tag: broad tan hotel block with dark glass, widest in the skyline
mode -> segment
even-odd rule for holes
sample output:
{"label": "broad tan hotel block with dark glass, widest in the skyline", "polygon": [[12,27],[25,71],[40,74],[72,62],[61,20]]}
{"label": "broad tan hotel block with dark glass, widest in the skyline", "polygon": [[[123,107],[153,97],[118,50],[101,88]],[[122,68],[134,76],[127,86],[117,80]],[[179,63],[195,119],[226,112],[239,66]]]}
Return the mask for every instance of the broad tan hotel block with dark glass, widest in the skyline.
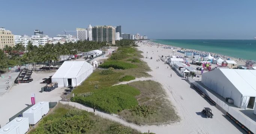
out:
{"label": "broad tan hotel block with dark glass, widest in the skyline", "polygon": [[93,41],[115,44],[115,28],[113,26],[94,26]]}

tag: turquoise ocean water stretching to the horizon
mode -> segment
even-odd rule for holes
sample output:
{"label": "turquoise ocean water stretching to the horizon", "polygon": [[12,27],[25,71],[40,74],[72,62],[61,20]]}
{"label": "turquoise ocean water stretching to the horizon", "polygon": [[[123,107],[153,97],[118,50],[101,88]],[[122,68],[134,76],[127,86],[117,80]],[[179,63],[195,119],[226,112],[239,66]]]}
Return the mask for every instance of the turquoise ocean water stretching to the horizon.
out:
{"label": "turquoise ocean water stretching to the horizon", "polygon": [[256,61],[256,39],[156,39],[153,42]]}

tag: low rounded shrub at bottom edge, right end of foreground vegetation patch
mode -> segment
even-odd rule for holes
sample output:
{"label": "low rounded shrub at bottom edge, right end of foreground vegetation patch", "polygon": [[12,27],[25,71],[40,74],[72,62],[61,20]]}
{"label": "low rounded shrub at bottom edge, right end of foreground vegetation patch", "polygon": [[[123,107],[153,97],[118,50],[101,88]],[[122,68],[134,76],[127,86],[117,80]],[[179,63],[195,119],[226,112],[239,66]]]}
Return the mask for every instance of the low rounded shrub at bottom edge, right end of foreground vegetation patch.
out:
{"label": "low rounded shrub at bottom edge, right end of foreground vegetation patch", "polygon": [[108,128],[107,133],[108,134],[131,134],[132,131],[130,128],[127,128],[123,125],[113,124]]}

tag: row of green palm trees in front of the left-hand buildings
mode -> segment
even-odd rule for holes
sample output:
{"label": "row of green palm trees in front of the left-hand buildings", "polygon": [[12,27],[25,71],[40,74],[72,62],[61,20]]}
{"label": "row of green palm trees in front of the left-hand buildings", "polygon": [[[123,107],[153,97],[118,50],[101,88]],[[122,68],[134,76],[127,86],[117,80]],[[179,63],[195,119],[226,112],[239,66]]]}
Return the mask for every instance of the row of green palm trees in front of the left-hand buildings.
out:
{"label": "row of green palm trees in front of the left-hand buildings", "polygon": [[21,43],[14,47],[5,46],[3,50],[0,50],[0,69],[19,64],[33,64],[34,68],[36,63],[48,63],[50,68],[51,61],[58,61],[60,55],[74,55],[78,52],[87,52],[104,46],[106,46],[106,42],[94,41],[45,44],[43,46],[39,45],[39,47],[28,42],[26,48]]}

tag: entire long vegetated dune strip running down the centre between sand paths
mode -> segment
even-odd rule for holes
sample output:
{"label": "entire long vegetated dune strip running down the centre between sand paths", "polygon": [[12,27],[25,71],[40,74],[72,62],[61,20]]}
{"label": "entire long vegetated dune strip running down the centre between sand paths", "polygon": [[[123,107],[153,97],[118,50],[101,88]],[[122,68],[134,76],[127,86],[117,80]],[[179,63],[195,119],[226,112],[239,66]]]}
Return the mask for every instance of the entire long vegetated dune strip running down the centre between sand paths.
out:
{"label": "entire long vegetated dune strip running down the centre between sand paths", "polygon": [[[118,47],[117,51],[103,62],[72,93],[71,101],[136,122],[162,123],[178,121],[160,83],[148,80],[118,84],[134,80],[135,77],[151,77],[151,71],[136,47]],[[115,85],[115,86],[113,86]]]}

